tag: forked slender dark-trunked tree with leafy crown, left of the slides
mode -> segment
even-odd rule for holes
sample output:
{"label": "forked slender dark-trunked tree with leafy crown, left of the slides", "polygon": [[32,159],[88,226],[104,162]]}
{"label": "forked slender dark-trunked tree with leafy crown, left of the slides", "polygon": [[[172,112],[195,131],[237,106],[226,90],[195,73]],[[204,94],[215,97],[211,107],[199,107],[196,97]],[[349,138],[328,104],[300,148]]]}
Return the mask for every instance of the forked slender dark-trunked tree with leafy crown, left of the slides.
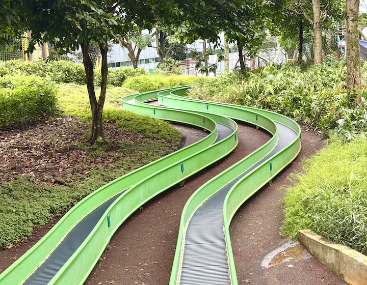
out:
{"label": "forked slender dark-trunked tree with leafy crown, left of the slides", "polygon": [[[180,11],[172,2],[117,0],[22,0],[23,28],[32,31],[30,51],[41,40],[51,41],[65,52],[81,47],[86,71],[87,90],[92,113],[89,143],[103,138],[102,112],[107,87],[108,42],[129,34],[136,26],[152,27],[156,17],[177,17]],[[145,13],[141,13],[144,10]],[[101,84],[97,99],[94,69],[89,53],[90,42],[98,44],[101,53]]]}

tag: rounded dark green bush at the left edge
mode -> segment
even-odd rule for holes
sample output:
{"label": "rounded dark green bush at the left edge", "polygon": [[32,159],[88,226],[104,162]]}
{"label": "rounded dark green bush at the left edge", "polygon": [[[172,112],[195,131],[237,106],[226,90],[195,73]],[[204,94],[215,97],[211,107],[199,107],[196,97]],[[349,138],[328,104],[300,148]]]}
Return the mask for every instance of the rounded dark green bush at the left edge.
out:
{"label": "rounded dark green bush at the left edge", "polygon": [[22,74],[0,77],[0,127],[31,123],[57,111],[54,83]]}

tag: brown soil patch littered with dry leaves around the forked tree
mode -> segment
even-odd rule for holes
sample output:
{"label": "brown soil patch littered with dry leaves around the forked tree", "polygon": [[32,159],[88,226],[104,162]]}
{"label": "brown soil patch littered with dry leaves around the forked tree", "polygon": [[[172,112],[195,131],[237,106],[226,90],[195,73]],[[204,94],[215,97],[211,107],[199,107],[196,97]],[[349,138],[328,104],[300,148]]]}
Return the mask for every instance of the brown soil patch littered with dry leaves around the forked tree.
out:
{"label": "brown soil patch littered with dry leaves around the forked tree", "polygon": [[[89,124],[75,117],[55,118],[20,129],[0,129],[0,182],[29,176],[40,184],[62,184],[62,179],[71,175],[87,175],[96,166],[115,162],[113,156],[91,160],[88,155],[93,149],[78,146],[89,129]],[[104,123],[104,134],[119,144],[136,142],[136,135],[111,123]],[[117,149],[112,147],[109,152]]]}

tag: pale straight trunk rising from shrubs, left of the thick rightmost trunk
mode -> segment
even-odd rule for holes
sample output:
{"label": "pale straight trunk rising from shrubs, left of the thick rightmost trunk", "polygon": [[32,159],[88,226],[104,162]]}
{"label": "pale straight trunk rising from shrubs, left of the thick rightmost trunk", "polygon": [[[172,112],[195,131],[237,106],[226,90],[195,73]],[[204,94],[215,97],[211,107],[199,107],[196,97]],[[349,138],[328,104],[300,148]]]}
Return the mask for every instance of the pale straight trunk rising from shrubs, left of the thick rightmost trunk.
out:
{"label": "pale straight trunk rising from shrubs, left of the thick rightmost trunk", "polygon": [[319,64],[323,62],[320,0],[312,0],[312,10],[313,10],[313,62],[315,64]]}

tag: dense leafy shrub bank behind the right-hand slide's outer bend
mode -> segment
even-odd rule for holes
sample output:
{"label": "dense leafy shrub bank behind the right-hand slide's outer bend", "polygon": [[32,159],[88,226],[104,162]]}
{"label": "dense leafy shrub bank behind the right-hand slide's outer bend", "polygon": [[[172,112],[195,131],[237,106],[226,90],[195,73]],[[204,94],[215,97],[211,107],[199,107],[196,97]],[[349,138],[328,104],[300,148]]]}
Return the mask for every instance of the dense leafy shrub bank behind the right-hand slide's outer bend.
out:
{"label": "dense leafy shrub bank behind the right-hand slide's outer bend", "polygon": [[357,94],[345,89],[345,79],[345,62],[327,58],[304,72],[285,64],[268,65],[245,80],[223,74],[209,83],[198,82],[190,93],[199,99],[269,109],[324,135],[334,131],[350,140],[367,132],[367,91],[362,90],[362,103],[355,105]]}

